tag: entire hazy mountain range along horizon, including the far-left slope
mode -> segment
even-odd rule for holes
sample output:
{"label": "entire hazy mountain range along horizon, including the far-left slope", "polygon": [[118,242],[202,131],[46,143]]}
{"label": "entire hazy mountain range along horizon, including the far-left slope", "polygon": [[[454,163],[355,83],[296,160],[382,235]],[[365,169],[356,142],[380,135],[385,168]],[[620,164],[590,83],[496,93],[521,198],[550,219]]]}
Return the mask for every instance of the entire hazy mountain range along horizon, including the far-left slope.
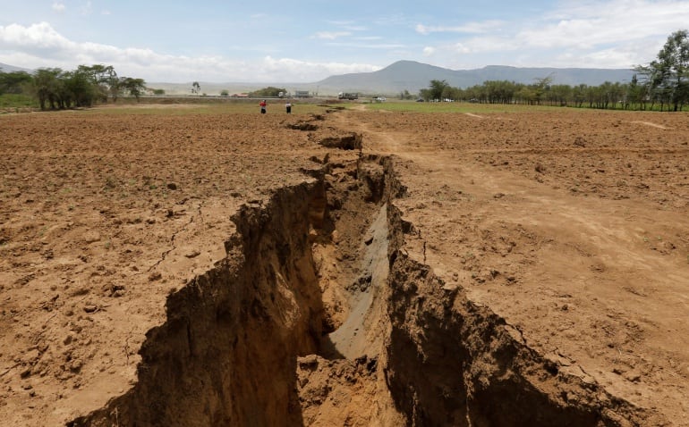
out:
{"label": "entire hazy mountain range along horizon, including the far-left slope", "polygon": [[[0,63],[0,71],[31,70]],[[419,89],[428,88],[430,80],[446,80],[454,88],[469,88],[488,80],[507,80],[531,84],[535,80],[550,77],[553,84],[598,86],[606,81],[625,82],[632,80],[634,71],[625,69],[599,68],[518,68],[503,65],[489,65],[475,70],[450,70],[427,63],[397,61],[386,68],[372,72],[357,72],[330,76],[313,83],[217,83],[200,82],[201,91],[208,95],[219,95],[222,90],[231,94],[250,92],[267,86],[286,88],[288,91],[309,90],[320,96],[333,96],[338,92],[359,92],[367,95],[397,95],[408,90],[412,95]],[[147,82],[149,88],[162,88],[169,95],[190,94],[189,83]]]}

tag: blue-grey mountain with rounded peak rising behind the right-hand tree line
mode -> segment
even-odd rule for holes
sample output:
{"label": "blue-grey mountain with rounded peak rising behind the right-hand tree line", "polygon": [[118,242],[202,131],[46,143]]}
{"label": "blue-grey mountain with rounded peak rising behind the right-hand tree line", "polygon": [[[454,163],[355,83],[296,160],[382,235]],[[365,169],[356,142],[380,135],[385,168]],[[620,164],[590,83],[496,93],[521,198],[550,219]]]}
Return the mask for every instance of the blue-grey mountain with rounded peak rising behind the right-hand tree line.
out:
{"label": "blue-grey mountain with rounded peak rising behind the right-hand tree line", "polygon": [[488,80],[508,80],[531,84],[550,77],[553,84],[598,86],[606,81],[624,82],[632,79],[632,70],[595,68],[517,68],[489,65],[476,70],[449,70],[426,63],[398,61],[373,72],[331,76],[315,83],[320,88],[339,88],[343,92],[379,92],[398,94],[409,90],[415,94],[428,88],[430,80],[446,80],[454,88],[469,88]]}

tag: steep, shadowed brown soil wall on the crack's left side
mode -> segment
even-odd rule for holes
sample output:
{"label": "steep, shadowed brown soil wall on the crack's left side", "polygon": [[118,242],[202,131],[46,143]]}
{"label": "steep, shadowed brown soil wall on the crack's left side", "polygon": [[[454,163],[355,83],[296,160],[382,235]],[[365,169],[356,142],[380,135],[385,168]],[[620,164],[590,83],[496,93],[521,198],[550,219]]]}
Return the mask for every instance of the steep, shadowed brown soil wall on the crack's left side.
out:
{"label": "steep, shadowed brown soil wall on the crack's left side", "polygon": [[72,425],[300,425],[296,357],[318,350],[323,310],[308,239],[321,181],[244,205],[228,256],[167,300],[138,383]]}

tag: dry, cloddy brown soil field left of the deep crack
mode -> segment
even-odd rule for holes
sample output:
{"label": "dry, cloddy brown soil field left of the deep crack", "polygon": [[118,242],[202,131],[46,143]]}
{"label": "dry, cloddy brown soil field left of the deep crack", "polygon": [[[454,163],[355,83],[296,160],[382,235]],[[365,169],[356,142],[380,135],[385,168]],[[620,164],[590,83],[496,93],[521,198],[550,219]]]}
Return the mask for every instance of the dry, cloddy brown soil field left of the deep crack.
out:
{"label": "dry, cloddy brown soil field left of the deep crack", "polygon": [[237,207],[302,182],[319,153],[277,114],[32,113],[0,134],[3,425],[58,425],[128,389],[167,295],[225,256]]}

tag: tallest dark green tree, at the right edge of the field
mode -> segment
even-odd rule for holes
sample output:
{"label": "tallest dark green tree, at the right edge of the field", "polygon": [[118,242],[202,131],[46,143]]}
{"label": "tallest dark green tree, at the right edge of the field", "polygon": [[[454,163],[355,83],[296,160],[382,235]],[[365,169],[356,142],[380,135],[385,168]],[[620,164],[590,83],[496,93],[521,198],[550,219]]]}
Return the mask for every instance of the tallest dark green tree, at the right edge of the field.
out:
{"label": "tallest dark green tree, at the right edge of the field", "polygon": [[680,29],[668,37],[655,61],[635,68],[645,77],[651,102],[659,101],[660,109],[668,104],[678,111],[689,101],[689,31]]}

